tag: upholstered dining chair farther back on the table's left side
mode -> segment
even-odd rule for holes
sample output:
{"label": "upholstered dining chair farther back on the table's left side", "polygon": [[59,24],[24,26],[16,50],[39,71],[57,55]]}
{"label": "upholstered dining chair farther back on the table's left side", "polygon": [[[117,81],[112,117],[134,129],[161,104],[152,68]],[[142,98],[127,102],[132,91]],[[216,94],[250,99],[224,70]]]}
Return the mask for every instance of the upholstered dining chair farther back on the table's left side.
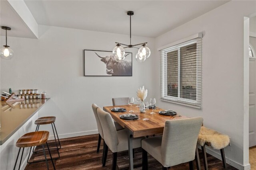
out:
{"label": "upholstered dining chair farther back on the table's left side", "polygon": [[[97,123],[97,127],[98,127],[98,132],[99,132],[99,138],[98,138],[98,147],[97,147],[97,153],[99,152],[100,150],[100,142],[101,142],[101,139],[104,140],[104,136],[103,136],[103,131],[102,131],[102,126],[100,124],[100,119],[98,117],[98,113],[97,113],[97,109],[98,109],[98,106],[96,104],[92,104],[92,110],[93,110],[93,113],[94,113],[94,116],[95,116],[95,119],[96,119],[96,123]],[[116,128],[117,131],[121,130],[121,129],[124,129],[122,126],[120,126],[117,122],[114,122],[114,126]],[[104,145],[103,145],[104,147]],[[104,149],[103,149],[104,150]],[[102,154],[102,162],[103,162],[103,156],[104,156],[104,152]]]}

